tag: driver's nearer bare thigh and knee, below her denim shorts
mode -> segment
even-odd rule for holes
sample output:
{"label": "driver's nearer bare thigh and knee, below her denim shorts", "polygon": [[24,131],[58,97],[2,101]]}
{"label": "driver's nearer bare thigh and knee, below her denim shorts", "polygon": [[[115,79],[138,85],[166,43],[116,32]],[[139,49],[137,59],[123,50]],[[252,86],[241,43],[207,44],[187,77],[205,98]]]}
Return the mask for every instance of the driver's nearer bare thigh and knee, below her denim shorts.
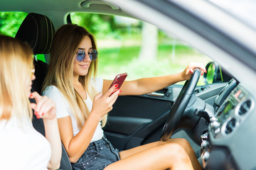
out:
{"label": "driver's nearer bare thigh and knee, below her denim shorts", "polygon": [[[124,156],[124,154],[121,154]],[[126,155],[127,156],[127,155]],[[105,170],[148,170],[148,169],[171,169],[171,170],[189,170],[193,169],[191,161],[186,151],[175,143],[166,143],[144,149],[141,152],[134,153],[128,157],[122,158],[105,168]]]}

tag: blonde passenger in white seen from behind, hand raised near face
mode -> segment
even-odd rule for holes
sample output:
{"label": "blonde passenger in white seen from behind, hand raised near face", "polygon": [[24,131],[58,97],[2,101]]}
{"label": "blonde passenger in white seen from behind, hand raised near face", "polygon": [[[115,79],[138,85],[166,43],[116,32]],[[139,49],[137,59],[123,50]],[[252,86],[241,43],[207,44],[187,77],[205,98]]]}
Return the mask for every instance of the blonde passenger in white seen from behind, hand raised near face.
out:
{"label": "blonde passenger in white seen from behind, hand raised near face", "polygon": [[[58,169],[61,142],[55,103],[34,92],[33,52],[20,40],[0,35],[0,169]],[[36,103],[30,103],[34,98]],[[32,125],[32,109],[43,118],[46,137]]]}

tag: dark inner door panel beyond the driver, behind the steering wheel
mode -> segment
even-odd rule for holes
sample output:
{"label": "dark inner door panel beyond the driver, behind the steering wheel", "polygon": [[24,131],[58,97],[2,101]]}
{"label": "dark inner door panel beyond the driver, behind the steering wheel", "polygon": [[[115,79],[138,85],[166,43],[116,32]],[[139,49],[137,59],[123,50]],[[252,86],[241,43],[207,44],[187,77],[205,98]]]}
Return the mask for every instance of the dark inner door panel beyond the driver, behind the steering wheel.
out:
{"label": "dark inner door panel beyond the driver, behind the steering wheel", "polygon": [[[213,106],[215,97],[223,86],[225,84],[198,86],[195,94]],[[175,84],[154,94],[119,96],[104,128],[107,139],[120,150],[160,140],[161,129],[181,88],[182,85]],[[186,120],[181,120],[181,124],[186,123]],[[193,136],[193,134],[187,136]]]}

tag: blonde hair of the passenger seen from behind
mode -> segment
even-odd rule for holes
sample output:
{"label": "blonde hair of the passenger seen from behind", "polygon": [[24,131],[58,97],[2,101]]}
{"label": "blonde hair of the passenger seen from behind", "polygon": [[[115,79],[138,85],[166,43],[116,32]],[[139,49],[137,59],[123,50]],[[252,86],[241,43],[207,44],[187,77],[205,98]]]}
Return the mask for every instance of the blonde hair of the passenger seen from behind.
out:
{"label": "blonde hair of the passenger seen from behind", "polygon": [[21,40],[0,35],[0,120],[29,117],[32,110],[26,94],[33,69],[33,52]]}

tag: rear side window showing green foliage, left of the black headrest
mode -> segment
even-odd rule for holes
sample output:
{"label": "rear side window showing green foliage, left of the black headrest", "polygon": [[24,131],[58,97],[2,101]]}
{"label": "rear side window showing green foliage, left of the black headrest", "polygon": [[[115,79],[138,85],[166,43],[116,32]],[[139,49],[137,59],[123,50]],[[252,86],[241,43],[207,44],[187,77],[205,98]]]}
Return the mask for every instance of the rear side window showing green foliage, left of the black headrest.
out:
{"label": "rear side window showing green foliage, left of the black headrest", "polygon": [[[14,38],[27,15],[24,12],[0,12],[0,34]],[[46,62],[44,55],[36,56],[38,60]]]}

